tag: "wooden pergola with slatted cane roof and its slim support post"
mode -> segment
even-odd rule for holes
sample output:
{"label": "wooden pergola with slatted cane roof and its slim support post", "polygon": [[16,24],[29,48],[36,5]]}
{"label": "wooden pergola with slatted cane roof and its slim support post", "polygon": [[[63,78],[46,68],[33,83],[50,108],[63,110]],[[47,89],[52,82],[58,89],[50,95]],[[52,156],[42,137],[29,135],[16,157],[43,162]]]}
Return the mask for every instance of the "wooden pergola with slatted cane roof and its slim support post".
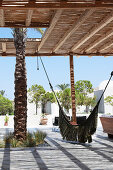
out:
{"label": "wooden pergola with slatted cane roof and its slim support post", "polygon": [[[1,0],[0,27],[47,28],[28,39],[26,56],[113,56],[113,0]],[[0,39],[0,55],[15,56],[13,39]]]}

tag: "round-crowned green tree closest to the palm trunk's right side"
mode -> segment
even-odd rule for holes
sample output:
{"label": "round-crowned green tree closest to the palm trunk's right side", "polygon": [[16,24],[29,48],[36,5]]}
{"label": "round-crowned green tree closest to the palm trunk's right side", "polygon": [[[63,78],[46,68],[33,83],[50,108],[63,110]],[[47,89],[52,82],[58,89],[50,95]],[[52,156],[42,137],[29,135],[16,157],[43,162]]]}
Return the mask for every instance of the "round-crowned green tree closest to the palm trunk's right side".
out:
{"label": "round-crowned green tree closest to the palm trunk's right side", "polygon": [[38,104],[42,100],[46,91],[44,90],[43,86],[35,84],[35,85],[32,85],[31,88],[29,88],[28,92],[31,97],[31,99],[29,99],[29,101],[31,103],[34,102],[36,104],[36,114],[37,114]]}

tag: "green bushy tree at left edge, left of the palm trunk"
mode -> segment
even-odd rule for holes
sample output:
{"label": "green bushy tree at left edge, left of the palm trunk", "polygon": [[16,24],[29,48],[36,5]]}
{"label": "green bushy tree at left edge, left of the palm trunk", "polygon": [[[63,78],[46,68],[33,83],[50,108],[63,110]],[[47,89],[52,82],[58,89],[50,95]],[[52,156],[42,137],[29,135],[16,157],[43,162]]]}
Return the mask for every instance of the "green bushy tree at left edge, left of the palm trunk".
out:
{"label": "green bushy tree at left edge, left of the palm trunk", "polygon": [[12,114],[13,103],[11,100],[0,94],[0,115]]}

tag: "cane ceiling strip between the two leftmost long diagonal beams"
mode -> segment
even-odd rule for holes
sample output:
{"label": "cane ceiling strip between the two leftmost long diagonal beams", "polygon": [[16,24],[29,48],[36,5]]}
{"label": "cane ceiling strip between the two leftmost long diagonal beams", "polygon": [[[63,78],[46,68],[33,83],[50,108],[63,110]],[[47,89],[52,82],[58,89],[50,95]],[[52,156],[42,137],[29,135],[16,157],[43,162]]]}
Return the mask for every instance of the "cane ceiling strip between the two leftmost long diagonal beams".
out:
{"label": "cane ceiling strip between the two leftmost long diagonal beams", "polygon": [[[49,47],[50,51],[53,51],[54,46],[59,42],[59,40],[61,40],[61,38],[64,36],[64,33],[67,32],[70,27],[72,27],[73,22],[76,22],[79,19],[83,12],[84,10],[64,10],[56,26],[54,27],[54,30],[46,40],[44,48],[46,46],[46,48]],[[41,51],[44,52],[43,47]]]}

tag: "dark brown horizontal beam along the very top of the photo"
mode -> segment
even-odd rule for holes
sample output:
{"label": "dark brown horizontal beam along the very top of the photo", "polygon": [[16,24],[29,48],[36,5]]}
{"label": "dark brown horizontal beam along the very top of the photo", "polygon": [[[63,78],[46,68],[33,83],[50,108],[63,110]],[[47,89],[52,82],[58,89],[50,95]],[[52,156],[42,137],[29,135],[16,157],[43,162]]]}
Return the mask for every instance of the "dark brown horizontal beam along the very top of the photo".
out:
{"label": "dark brown horizontal beam along the very top of the photo", "polygon": [[7,1],[5,4],[1,4],[0,8],[1,9],[13,9],[13,10],[21,10],[21,9],[87,9],[87,8],[112,8],[113,3],[110,2],[110,0],[107,0],[107,3],[105,1],[101,0],[95,0],[95,3],[92,2],[84,2],[84,1],[55,1],[55,2],[50,2],[46,1],[37,1],[33,3],[22,3],[20,2],[14,2],[14,1]]}

